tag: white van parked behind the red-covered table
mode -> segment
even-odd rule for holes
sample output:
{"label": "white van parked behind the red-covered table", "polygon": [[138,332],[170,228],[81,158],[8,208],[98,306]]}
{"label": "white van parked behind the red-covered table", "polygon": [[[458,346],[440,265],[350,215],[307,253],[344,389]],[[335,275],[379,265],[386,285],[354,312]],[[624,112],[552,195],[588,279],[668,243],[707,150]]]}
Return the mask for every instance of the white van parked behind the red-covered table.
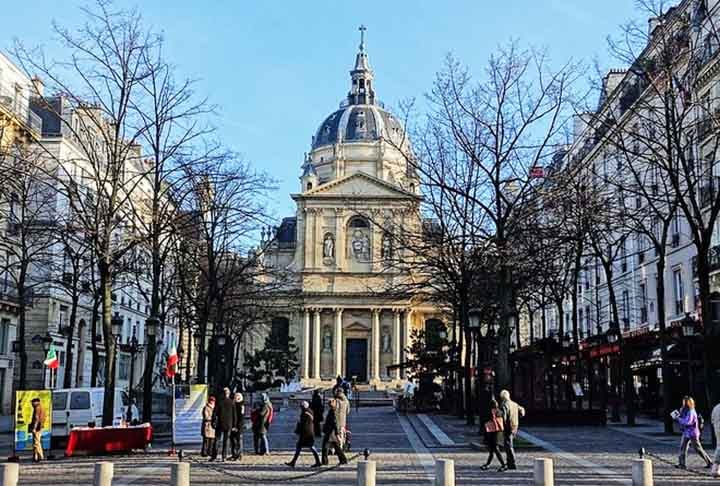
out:
{"label": "white van parked behind the red-covered table", "polygon": [[[104,402],[102,387],[61,388],[52,391],[53,421],[52,438],[66,438],[74,427],[100,427]],[[115,389],[115,413],[113,425],[120,425],[128,403],[127,393]]]}

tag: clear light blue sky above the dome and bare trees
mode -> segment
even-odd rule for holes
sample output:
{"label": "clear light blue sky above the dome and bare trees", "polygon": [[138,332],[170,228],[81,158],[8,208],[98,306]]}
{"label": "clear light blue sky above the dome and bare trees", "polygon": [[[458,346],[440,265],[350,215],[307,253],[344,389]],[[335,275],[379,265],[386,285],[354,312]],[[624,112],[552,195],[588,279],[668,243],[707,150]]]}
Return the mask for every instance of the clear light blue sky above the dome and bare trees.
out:
{"label": "clear light blue sky above the dome and bare trees", "polygon": [[[388,107],[422,97],[452,52],[481,73],[498,44],[546,47],[553,62],[613,66],[606,37],[637,15],[632,0],[116,0],[141,7],[165,34],[182,76],[218,105],[219,136],[278,180],[278,216],[294,211],[303,153],[349,88],[348,71],[365,24],[375,87]],[[10,2],[0,49],[15,38],[52,48],[52,20],[80,21],[74,0]],[[52,50],[50,51],[52,52]]]}

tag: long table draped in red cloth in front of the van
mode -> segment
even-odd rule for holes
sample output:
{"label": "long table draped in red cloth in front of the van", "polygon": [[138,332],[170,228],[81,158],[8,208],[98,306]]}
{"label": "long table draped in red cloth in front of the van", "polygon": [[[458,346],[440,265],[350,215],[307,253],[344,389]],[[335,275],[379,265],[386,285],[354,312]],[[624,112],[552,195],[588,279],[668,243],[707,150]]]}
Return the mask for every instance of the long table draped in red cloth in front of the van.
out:
{"label": "long table draped in red cloth in front of the van", "polygon": [[75,451],[88,454],[129,452],[133,449],[145,449],[150,441],[150,424],[133,427],[81,427],[70,431],[65,455],[72,456]]}

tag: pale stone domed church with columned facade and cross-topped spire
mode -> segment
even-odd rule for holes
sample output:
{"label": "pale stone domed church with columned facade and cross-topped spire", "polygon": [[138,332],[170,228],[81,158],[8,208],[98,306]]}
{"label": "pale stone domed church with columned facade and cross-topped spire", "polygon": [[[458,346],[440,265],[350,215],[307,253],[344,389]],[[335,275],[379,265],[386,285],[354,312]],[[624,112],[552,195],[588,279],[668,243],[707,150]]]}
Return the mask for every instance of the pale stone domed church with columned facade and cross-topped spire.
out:
{"label": "pale stone domed church with columned facade and cross-topped spire", "polygon": [[377,99],[361,36],[350,90],[312,137],[292,195],[296,214],[275,230],[266,259],[297,277],[299,304],[273,328],[295,338],[304,384],[341,375],[397,385],[404,372],[392,366],[407,361],[412,330],[444,327],[432,306],[387,291],[399,272],[388,264],[394,249],[386,232],[419,225],[409,154],[402,124]]}

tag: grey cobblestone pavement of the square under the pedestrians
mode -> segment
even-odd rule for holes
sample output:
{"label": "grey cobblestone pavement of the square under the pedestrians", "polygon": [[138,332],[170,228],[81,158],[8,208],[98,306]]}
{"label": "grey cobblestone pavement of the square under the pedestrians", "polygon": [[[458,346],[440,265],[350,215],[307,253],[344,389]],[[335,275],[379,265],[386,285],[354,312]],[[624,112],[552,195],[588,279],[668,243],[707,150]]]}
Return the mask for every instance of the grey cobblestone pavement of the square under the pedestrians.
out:
{"label": "grey cobblestone pavement of the square under the pedestrians", "polygon": [[[296,469],[284,465],[291,457],[296,417],[295,411],[282,411],[277,415],[271,429],[270,456],[246,454],[240,463],[208,463],[197,456],[196,450],[189,448],[192,484],[355,484],[357,458],[347,466],[313,470],[309,468],[312,456],[303,452]],[[433,427],[433,424],[437,427]],[[658,486],[720,484],[719,480],[709,478],[707,470],[701,469],[701,461],[696,456],[691,456],[689,460],[695,472],[674,469],[672,464],[676,461],[677,441],[674,438],[654,436],[650,429],[643,427],[632,430],[621,426],[527,428],[525,439],[546,449],[520,451],[518,470],[498,473],[494,469],[488,472],[478,469],[486,453],[467,447],[465,441],[471,438],[471,434],[458,436],[453,427],[460,428],[460,424],[452,418],[399,417],[390,407],[382,407],[361,409],[359,413],[353,413],[350,425],[354,446],[352,455],[364,447],[371,449],[371,459],[377,461],[380,485],[432,484],[433,463],[438,458],[455,461],[458,485],[531,485],[532,461],[541,456],[554,459],[557,485],[631,484],[630,463],[637,457],[637,450],[641,446],[659,458],[654,460],[655,484]],[[435,436],[438,430],[446,435],[445,438],[439,438],[442,440]],[[456,445],[440,447],[440,443],[447,443],[447,437],[455,441]],[[460,437],[463,437],[462,443],[455,440]],[[247,435],[245,445],[251,445]],[[151,486],[169,484],[169,465],[175,459],[155,452],[148,455],[111,456],[102,460],[115,463],[114,485]],[[93,464],[97,461],[98,458],[71,458],[40,465],[23,462],[20,484],[92,484]],[[334,458],[331,458],[331,464],[335,464]]]}

